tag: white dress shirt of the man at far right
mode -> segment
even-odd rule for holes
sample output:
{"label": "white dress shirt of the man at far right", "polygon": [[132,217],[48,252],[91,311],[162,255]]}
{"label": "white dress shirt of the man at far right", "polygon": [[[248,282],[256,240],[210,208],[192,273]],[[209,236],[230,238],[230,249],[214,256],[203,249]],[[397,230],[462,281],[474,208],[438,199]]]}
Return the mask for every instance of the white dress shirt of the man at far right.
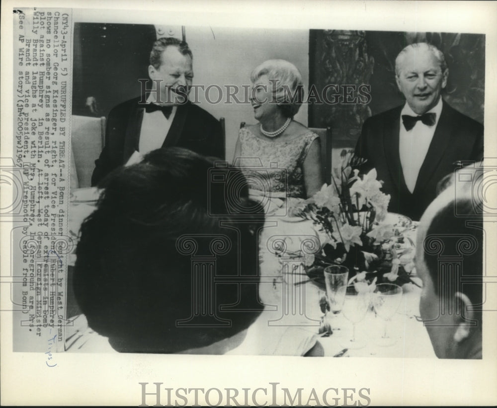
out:
{"label": "white dress shirt of the man at far right", "polygon": [[402,123],[402,115],[419,116],[406,103],[401,112],[400,131],[399,131],[399,155],[401,159],[402,171],[407,188],[412,193],[416,185],[419,169],[423,164],[428,148],[430,147],[431,139],[435,133],[440,113],[442,112],[442,98],[436,106],[426,113],[435,113],[435,124],[427,126],[421,121],[417,121],[414,128],[409,132]]}

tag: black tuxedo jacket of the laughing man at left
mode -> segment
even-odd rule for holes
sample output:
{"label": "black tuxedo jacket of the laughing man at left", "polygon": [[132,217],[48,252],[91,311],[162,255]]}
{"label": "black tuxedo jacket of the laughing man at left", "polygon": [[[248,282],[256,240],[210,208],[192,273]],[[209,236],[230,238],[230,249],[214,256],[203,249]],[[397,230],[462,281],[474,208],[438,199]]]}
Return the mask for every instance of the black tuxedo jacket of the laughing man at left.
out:
{"label": "black tuxedo jacket of the laughing man at left", "polygon": [[[110,171],[125,164],[138,151],[144,105],[140,98],[113,108],[107,118],[105,146],[95,161],[91,185],[97,185]],[[169,132],[162,145],[185,147],[204,156],[224,159],[221,124],[211,114],[191,102],[178,105]]]}

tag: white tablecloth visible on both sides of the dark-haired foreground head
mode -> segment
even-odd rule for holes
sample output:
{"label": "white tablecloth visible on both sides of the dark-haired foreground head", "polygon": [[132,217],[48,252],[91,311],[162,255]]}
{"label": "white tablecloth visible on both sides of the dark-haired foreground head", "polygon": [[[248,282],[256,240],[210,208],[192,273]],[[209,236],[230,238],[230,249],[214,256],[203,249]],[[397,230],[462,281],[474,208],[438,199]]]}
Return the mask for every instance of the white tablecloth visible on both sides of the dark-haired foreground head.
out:
{"label": "white tablecloth visible on both sides of the dark-haired foreground head", "polygon": [[[91,213],[94,203],[72,202],[70,206],[70,230],[76,236],[83,219]],[[311,221],[294,222],[295,219],[268,217],[260,237],[261,283],[259,292],[266,305],[256,322],[248,329],[245,340],[230,354],[248,355],[303,355],[319,341],[326,356],[333,356],[343,348],[351,335],[352,324],[341,314],[334,317],[333,327],[339,327],[330,337],[318,337],[319,321],[323,313],[319,300],[324,294],[313,283],[295,284],[307,280],[304,264],[295,273],[281,273],[276,258],[270,255],[271,244],[283,240],[288,251],[298,251],[302,240],[316,237]],[[318,234],[319,236],[319,234]],[[269,254],[269,256],[268,256]],[[275,261],[275,262],[272,262]],[[298,262],[296,263],[298,264]],[[275,267],[276,266],[276,267]],[[383,330],[383,321],[368,311],[364,320],[357,324],[356,337],[365,340],[366,346],[349,349],[345,356],[356,357],[434,357],[434,352],[419,316],[420,289],[413,284],[403,287],[402,304],[392,318],[390,335],[397,339],[392,346],[375,343]],[[112,349],[105,338],[87,328],[84,317],[79,318],[69,351],[105,352]],[[82,326],[83,325],[83,326]],[[68,342],[70,343],[70,342]]]}

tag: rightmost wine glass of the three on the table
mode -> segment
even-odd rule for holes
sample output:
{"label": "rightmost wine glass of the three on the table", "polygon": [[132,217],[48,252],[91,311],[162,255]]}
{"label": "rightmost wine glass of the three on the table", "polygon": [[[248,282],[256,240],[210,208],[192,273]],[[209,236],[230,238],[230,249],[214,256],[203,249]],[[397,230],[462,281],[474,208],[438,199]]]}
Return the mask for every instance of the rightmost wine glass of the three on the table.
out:
{"label": "rightmost wine glass of the three on the table", "polygon": [[381,339],[375,342],[378,345],[390,346],[395,344],[396,339],[388,335],[389,322],[397,312],[402,301],[402,287],[393,283],[379,283],[372,294],[372,303],[376,315],[385,321],[385,327]]}

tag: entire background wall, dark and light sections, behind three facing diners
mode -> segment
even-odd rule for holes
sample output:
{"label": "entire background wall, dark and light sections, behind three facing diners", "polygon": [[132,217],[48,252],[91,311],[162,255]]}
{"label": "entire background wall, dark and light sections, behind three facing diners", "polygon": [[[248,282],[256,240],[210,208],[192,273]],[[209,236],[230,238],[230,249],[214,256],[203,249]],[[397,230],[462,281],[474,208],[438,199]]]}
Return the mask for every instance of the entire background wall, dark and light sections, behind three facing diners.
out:
{"label": "entire background wall, dark and light sections, behind three facing diners", "polygon": [[[195,54],[195,83],[223,86],[247,82],[248,73],[256,63],[253,55],[248,57],[246,52],[251,51],[250,44],[256,33],[216,29],[217,37],[214,37],[210,29],[205,30],[186,29]],[[436,45],[445,55],[449,67],[448,85],[442,94],[445,100],[483,123],[483,34],[310,30],[301,33],[306,41],[297,41],[299,33],[285,30],[262,33],[265,42],[259,38],[256,41],[258,47],[253,50],[254,55],[259,56],[257,63],[270,58],[284,58],[298,65],[304,77],[307,76],[307,67],[301,65],[308,64],[309,84],[306,85],[315,85],[318,90],[327,84],[341,86],[339,93],[345,84],[371,86],[371,99],[367,104],[314,103],[301,108],[297,120],[305,125],[308,116],[310,127],[331,126],[334,148],[354,146],[367,117],[404,103],[395,83],[395,58],[406,45],[419,41]],[[150,48],[158,35],[154,25],[75,24],[73,114],[107,116],[116,104],[139,96],[138,78],[148,78]],[[290,42],[289,36],[293,39]],[[219,58],[212,57],[213,50],[219,51]],[[238,65],[230,70],[234,64],[230,58],[233,59],[234,55]],[[302,64],[299,64],[300,60]],[[219,75],[215,76],[216,73]],[[354,96],[357,92],[355,95],[352,92],[352,99]],[[92,99],[88,101],[88,98]],[[227,129],[233,128],[227,135],[227,153],[231,157],[240,122],[250,122],[249,106],[203,104],[203,107],[216,117],[225,117]],[[308,115],[304,108],[308,108]]]}

